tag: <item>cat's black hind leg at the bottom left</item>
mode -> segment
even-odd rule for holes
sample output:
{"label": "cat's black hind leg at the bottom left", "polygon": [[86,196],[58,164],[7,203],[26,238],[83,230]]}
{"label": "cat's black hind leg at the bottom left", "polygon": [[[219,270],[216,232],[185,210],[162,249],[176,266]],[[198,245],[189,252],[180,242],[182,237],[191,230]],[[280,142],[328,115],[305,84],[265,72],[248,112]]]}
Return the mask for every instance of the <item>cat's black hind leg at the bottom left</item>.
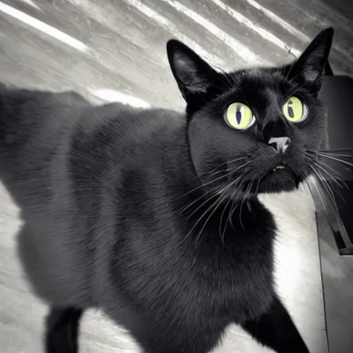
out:
{"label": "cat's black hind leg at the bottom left", "polygon": [[78,353],[82,309],[52,307],[46,319],[46,353]]}

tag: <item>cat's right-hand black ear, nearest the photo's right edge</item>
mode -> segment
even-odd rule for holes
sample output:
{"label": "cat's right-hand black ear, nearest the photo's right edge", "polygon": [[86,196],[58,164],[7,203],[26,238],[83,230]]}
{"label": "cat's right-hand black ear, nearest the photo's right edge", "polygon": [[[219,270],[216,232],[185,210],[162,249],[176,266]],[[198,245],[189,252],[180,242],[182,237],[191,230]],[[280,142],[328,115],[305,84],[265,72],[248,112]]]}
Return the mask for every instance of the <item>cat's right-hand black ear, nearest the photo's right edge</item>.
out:
{"label": "cat's right-hand black ear, nearest the photo's right edge", "polygon": [[320,32],[294,63],[290,69],[289,77],[301,78],[303,84],[309,85],[314,90],[319,90],[325,74],[325,65],[330,54],[333,36],[333,28],[327,28]]}

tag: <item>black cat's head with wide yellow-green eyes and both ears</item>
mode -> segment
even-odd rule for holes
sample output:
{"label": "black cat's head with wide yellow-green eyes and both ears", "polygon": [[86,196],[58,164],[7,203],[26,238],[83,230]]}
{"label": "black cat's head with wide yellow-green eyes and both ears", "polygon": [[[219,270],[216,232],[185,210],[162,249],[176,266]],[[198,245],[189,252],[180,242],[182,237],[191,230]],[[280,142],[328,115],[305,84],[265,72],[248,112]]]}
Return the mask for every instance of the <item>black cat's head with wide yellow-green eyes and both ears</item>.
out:
{"label": "black cat's head with wide yellow-green eyes and both ears", "polygon": [[214,70],[179,41],[168,58],[187,103],[190,153],[204,185],[232,195],[297,188],[313,173],[310,151],[327,143],[318,93],[333,29],[276,68]]}

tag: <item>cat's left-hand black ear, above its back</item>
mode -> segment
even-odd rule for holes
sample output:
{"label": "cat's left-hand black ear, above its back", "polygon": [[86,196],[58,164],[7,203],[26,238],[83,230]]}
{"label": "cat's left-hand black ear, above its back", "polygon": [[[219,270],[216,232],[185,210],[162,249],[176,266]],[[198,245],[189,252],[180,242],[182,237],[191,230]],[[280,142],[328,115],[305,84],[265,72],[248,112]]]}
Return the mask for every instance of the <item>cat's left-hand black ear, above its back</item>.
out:
{"label": "cat's left-hand black ear, above its back", "polygon": [[207,92],[218,74],[188,46],[172,39],[167,43],[170,68],[187,103],[195,94]]}

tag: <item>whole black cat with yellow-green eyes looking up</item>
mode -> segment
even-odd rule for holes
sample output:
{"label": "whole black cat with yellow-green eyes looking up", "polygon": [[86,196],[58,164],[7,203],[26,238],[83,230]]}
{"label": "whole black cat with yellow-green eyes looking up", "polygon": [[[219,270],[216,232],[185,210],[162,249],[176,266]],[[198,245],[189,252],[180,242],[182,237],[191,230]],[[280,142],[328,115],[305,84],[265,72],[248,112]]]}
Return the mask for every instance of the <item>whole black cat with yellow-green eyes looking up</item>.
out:
{"label": "whole black cat with yellow-green eyes looking up", "polygon": [[21,208],[19,254],[51,306],[48,353],[77,352],[101,307],[148,353],[206,353],[237,323],[308,352],[274,288],[272,214],[325,146],[318,92],[333,30],[279,68],[223,74],[179,41],[186,114],[0,88],[0,175]]}

